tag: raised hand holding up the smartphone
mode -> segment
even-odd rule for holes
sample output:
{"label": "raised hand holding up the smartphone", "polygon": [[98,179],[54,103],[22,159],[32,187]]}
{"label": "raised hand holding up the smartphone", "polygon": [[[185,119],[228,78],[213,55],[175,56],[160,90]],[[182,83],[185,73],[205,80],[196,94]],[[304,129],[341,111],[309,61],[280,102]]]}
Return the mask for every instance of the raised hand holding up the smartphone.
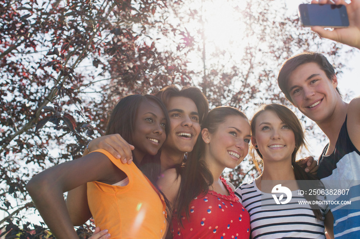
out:
{"label": "raised hand holding up the smartphone", "polygon": [[[360,49],[360,0],[351,0],[347,4],[344,0],[334,0],[336,5],[343,4],[349,16],[349,27],[335,28],[332,31],[325,30],[323,27],[312,27],[311,29],[319,34],[320,37],[332,39],[339,43]],[[311,1],[313,4],[333,4],[330,0]]]}

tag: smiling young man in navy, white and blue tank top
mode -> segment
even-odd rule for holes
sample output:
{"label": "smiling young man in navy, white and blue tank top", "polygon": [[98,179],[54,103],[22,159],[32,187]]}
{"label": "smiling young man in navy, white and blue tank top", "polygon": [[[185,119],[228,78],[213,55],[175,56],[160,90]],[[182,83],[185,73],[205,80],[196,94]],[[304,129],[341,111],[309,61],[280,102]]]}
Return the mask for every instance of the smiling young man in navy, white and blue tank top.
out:
{"label": "smiling young man in navy, white and blue tank top", "polygon": [[352,182],[349,194],[343,198],[352,205],[331,208],[335,237],[360,238],[360,206],[356,199],[360,196],[360,98],[344,102],[337,81],[327,58],[315,52],[291,57],[278,76],[286,98],[329,138],[319,158],[319,178]]}

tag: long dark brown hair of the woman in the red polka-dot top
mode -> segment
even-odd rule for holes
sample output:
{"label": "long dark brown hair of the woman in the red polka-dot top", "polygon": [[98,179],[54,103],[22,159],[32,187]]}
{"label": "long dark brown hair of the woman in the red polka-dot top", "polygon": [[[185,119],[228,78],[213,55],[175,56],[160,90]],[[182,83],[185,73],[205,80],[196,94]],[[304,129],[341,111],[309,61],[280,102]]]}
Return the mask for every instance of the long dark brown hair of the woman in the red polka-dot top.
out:
{"label": "long dark brown hair of the woman in the red polka-dot top", "polygon": [[[247,117],[244,113],[236,108],[221,106],[212,109],[205,118],[202,129],[208,129],[211,134],[217,131],[220,124],[226,121],[228,116]],[[191,201],[199,195],[205,195],[209,191],[214,179],[204,161],[200,160],[204,153],[205,143],[201,135],[197,138],[194,149],[188,155],[184,171],[181,175],[180,190],[177,201],[177,221],[181,223],[182,213],[185,211],[186,217],[189,218],[189,205]],[[181,199],[179,198],[181,196]]]}

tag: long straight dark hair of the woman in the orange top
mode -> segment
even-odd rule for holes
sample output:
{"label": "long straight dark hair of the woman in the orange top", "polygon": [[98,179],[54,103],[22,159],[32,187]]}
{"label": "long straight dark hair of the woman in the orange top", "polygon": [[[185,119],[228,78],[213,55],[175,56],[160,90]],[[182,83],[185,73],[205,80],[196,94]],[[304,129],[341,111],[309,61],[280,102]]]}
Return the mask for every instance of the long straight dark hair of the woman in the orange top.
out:
{"label": "long straight dark hair of the woman in the orange top", "polygon": [[[165,108],[163,102],[160,101],[157,97],[153,95],[141,95],[141,94],[132,94],[125,96],[120,99],[120,101],[114,107],[109,121],[107,123],[106,135],[107,134],[120,134],[125,141],[129,144],[134,145],[136,142],[133,142],[133,132],[135,128],[135,120],[137,109],[139,108],[142,102],[153,101],[155,102],[160,109],[163,111],[166,117],[166,127],[165,132],[169,132],[169,115]],[[156,182],[158,175],[160,174],[160,150],[156,155],[145,155],[142,158],[141,163],[138,165],[133,153],[133,162],[139,169],[149,178],[151,182]]]}

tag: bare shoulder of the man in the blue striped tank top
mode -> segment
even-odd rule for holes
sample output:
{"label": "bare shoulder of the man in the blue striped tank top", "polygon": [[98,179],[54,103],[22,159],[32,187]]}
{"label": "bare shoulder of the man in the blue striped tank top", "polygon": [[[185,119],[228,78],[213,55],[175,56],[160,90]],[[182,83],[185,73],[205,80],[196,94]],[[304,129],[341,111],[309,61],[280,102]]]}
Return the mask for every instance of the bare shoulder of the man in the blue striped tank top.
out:
{"label": "bare shoulder of the man in the blue striped tank top", "polygon": [[351,142],[360,150],[360,96],[351,100],[348,106],[347,128]]}

